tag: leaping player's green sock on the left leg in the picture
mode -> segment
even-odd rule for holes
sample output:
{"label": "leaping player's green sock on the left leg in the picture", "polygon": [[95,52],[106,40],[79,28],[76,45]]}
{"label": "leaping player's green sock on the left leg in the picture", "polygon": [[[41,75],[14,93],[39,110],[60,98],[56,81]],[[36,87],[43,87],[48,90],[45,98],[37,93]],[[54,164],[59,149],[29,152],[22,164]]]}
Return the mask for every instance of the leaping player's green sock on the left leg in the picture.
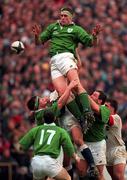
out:
{"label": "leaping player's green sock on the left leg in the picture", "polygon": [[72,100],[71,102],[69,102],[66,106],[76,119],[80,119],[82,117],[82,113],[81,113],[75,99]]}

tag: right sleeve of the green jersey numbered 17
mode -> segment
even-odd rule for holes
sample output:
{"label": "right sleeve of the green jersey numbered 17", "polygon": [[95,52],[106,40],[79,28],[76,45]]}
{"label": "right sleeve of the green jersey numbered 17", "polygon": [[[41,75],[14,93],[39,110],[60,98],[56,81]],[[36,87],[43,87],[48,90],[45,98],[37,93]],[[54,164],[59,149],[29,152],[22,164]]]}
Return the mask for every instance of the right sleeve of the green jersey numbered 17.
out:
{"label": "right sleeve of the green jersey numbered 17", "polygon": [[69,134],[64,129],[62,129],[61,143],[63,150],[67,153],[69,157],[72,157],[72,154],[75,152],[75,149]]}

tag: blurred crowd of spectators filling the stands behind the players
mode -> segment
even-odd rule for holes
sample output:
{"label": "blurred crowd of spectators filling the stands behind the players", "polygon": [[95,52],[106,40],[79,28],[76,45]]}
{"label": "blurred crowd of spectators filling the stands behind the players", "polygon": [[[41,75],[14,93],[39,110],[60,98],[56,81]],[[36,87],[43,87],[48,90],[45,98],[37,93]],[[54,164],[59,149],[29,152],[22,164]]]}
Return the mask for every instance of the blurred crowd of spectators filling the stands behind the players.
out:
{"label": "blurred crowd of spectators filling the stands behind the players", "polygon": [[[127,142],[127,1],[0,0],[0,160],[18,164],[16,172],[23,176],[27,172],[31,177],[30,170],[25,169],[29,167],[31,152],[19,155],[15,146],[34,124],[26,102],[33,95],[49,95],[54,90],[49,44],[35,45],[32,26],[40,24],[43,30],[58,19],[63,6],[74,9],[74,21],[88,33],[97,23],[103,26],[98,46],[79,47],[80,79],[89,93],[101,89],[118,101]],[[25,45],[21,55],[10,49],[16,40]]]}

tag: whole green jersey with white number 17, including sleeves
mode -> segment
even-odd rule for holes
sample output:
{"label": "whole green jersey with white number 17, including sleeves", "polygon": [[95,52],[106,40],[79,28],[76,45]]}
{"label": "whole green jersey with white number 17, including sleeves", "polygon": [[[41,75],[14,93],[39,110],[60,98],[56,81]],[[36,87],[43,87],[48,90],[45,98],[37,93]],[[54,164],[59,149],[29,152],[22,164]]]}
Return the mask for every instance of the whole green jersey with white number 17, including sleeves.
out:
{"label": "whole green jersey with white number 17, including sleeves", "polygon": [[68,133],[55,123],[44,123],[32,128],[19,143],[24,150],[28,150],[33,145],[35,155],[49,155],[52,158],[59,156],[61,145],[67,155],[72,156],[75,152]]}

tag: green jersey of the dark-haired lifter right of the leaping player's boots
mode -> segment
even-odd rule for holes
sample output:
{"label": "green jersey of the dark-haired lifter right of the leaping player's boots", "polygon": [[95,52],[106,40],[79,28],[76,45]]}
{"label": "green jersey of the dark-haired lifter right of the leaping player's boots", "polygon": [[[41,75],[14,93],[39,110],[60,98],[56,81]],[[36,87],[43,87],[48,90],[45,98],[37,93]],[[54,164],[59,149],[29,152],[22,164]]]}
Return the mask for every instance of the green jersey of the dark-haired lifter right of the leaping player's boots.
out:
{"label": "green jersey of the dark-haired lifter right of the leaping player's boots", "polygon": [[87,142],[97,142],[105,139],[105,125],[107,124],[110,116],[110,110],[104,106],[100,106],[100,114],[95,114],[95,122],[92,127],[87,130],[84,139]]}

